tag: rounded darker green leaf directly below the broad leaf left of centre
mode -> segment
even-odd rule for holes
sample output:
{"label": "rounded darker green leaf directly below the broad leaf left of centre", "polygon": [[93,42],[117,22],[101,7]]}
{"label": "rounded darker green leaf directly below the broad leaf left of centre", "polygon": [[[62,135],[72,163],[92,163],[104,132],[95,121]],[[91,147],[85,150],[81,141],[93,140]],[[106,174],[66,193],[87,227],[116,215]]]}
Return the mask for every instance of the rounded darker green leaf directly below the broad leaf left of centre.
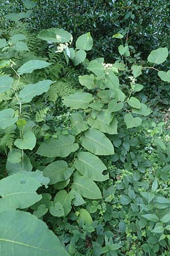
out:
{"label": "rounded darker green leaf directly below the broad leaf left of centre", "polygon": [[59,181],[69,179],[73,171],[74,168],[68,168],[67,162],[59,160],[46,166],[43,170],[43,174],[45,177],[49,177],[50,184],[55,184]]}

